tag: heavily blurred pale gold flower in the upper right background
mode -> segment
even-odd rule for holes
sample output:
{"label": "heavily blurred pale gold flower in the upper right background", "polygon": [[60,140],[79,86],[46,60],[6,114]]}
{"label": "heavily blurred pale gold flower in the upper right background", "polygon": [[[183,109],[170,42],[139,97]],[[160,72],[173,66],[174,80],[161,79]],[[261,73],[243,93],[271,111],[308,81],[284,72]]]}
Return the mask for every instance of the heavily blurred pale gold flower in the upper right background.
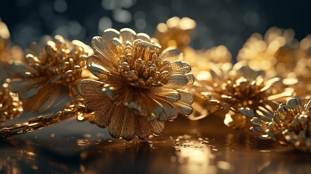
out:
{"label": "heavily blurred pale gold flower in the upper right background", "polygon": [[271,27],[262,37],[254,33],[238,52],[237,60],[246,60],[248,66],[254,70],[264,70],[270,75],[276,71],[284,72],[294,63],[293,58],[283,58],[290,53],[290,46],[294,46],[295,32],[292,29]]}

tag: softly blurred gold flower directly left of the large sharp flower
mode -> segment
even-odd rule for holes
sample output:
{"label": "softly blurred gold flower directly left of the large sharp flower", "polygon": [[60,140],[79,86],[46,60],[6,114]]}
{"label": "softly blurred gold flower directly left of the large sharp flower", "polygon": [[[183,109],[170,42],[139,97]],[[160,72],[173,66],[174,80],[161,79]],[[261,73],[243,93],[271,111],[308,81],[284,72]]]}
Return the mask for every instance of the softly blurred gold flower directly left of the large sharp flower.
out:
{"label": "softly blurred gold flower directly left of the large sharp flower", "polygon": [[89,46],[78,40],[69,42],[55,36],[43,43],[33,43],[27,50],[25,62],[14,61],[13,92],[18,92],[27,112],[43,112],[52,101],[63,93],[78,100],[77,84],[88,77],[85,67],[87,56],[92,54]]}

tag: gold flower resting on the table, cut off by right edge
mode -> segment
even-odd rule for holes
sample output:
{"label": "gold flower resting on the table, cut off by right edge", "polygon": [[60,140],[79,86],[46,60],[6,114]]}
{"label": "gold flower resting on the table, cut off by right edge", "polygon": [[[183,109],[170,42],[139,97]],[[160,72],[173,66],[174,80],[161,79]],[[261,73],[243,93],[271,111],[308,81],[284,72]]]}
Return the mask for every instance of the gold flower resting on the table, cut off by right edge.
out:
{"label": "gold flower resting on the table, cut off by right edge", "polygon": [[290,99],[273,116],[254,117],[252,124],[252,131],[261,138],[272,138],[311,152],[311,100],[304,107],[299,99]]}

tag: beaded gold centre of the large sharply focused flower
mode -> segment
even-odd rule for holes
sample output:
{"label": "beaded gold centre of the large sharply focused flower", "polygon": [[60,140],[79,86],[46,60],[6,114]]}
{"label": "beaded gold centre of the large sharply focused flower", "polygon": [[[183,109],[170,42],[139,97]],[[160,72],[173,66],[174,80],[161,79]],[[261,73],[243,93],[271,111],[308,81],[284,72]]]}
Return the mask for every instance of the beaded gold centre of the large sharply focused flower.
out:
{"label": "beaded gold centre of the large sharply focused flower", "polygon": [[134,87],[156,88],[169,81],[171,66],[168,60],[159,62],[160,48],[156,45],[137,40],[125,47],[118,59],[119,73]]}

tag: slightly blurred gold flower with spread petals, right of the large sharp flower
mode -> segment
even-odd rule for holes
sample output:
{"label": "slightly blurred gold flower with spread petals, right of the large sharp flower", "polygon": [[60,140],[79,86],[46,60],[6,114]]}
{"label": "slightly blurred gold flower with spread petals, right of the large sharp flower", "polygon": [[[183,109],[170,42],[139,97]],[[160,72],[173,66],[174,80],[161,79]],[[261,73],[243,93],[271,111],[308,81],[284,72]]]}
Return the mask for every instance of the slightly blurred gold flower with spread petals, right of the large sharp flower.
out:
{"label": "slightly blurred gold flower with spread petals, right of the large sharp flower", "polygon": [[289,84],[296,83],[296,79],[282,79],[269,77],[264,71],[254,71],[244,61],[224,63],[220,66],[211,65],[210,71],[201,71],[196,75],[195,90],[201,92],[205,115],[192,115],[202,118],[217,111],[226,109],[225,124],[232,128],[243,128],[251,113],[265,112],[267,108],[277,108],[293,95],[294,90]]}

